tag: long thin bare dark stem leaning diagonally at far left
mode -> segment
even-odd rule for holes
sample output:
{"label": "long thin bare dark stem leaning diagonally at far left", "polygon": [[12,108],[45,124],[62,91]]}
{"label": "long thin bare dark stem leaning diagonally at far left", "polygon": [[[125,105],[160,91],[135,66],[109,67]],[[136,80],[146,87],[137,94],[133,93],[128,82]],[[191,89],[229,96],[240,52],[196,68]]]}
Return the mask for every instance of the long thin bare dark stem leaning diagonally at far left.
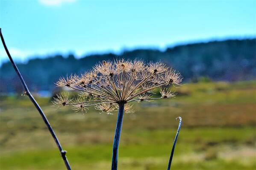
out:
{"label": "long thin bare dark stem leaning diagonally at far left", "polygon": [[61,146],[61,144],[59,143],[59,139],[57,138],[56,134],[54,133],[53,128],[51,127],[49,121],[47,120],[47,117],[45,116],[44,112],[42,111],[42,109],[40,108],[40,106],[38,105],[38,103],[35,101],[34,97],[31,95],[31,93],[30,93],[30,91],[29,91],[29,89],[28,89],[28,87],[27,87],[27,85],[26,85],[26,83],[25,83],[23,77],[21,76],[20,71],[18,70],[18,68],[17,68],[17,66],[16,66],[16,64],[15,64],[15,62],[13,61],[13,59],[12,59],[12,57],[11,57],[9,51],[8,51],[8,48],[6,47],[6,44],[5,44],[4,39],[3,39],[3,35],[2,35],[1,28],[0,28],[0,37],[1,37],[1,40],[2,40],[2,42],[3,42],[3,46],[4,46],[4,48],[5,48],[5,51],[6,51],[8,57],[9,57],[11,63],[12,63],[12,66],[13,66],[13,68],[15,69],[16,73],[18,74],[18,77],[21,79],[22,85],[24,86],[24,89],[25,89],[24,94],[26,94],[27,96],[29,96],[29,99],[30,99],[31,102],[35,105],[35,108],[36,108],[36,109],[38,110],[38,112],[40,113],[42,119],[44,120],[44,123],[47,125],[48,130],[50,131],[51,135],[53,136],[53,139],[55,140],[55,142],[56,142],[56,144],[57,144],[57,146],[58,146],[58,148],[59,148],[59,151],[60,151],[60,153],[61,153],[62,159],[63,159],[63,161],[65,162],[65,165],[66,165],[67,169],[68,169],[68,170],[71,170],[71,167],[70,167],[70,165],[69,165],[69,163],[68,163],[68,159],[67,159],[67,157],[66,157],[66,153],[67,153],[67,152],[62,149],[62,146]]}

